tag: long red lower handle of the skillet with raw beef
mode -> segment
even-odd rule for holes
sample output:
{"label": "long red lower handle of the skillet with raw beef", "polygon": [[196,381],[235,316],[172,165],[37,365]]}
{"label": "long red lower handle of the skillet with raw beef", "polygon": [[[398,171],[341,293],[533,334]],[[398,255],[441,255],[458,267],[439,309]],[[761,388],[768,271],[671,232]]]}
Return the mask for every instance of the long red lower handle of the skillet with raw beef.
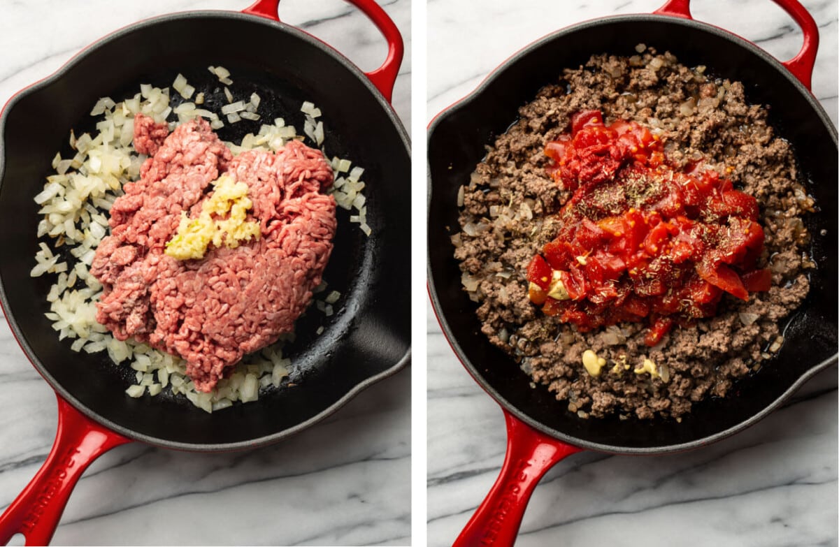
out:
{"label": "long red lower handle of the skillet with raw beef", "polygon": [[113,447],[129,442],[58,397],[58,431],[50,456],[5,513],[0,516],[0,545],[23,534],[27,545],[50,543],[70,492],[87,466]]}

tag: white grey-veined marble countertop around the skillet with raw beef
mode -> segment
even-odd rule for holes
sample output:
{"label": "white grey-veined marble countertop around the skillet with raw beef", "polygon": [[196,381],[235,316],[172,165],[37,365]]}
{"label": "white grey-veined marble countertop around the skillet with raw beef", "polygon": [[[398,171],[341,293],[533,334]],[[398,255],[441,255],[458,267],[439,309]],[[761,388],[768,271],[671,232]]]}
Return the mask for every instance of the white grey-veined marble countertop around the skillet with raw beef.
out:
{"label": "white grey-veined marble countertop around the skillet with raw beef", "polygon": [[[20,0],[0,8],[0,105],[103,35],[143,18],[241,10],[249,0]],[[410,124],[410,2],[382,2],[402,31],[393,105]],[[280,16],[373,70],[386,44],[341,0],[284,2]],[[0,510],[55,436],[55,395],[0,320]],[[94,462],[54,544],[410,543],[410,371],[367,388],[315,427],[256,451],[192,454],[130,444]]]}

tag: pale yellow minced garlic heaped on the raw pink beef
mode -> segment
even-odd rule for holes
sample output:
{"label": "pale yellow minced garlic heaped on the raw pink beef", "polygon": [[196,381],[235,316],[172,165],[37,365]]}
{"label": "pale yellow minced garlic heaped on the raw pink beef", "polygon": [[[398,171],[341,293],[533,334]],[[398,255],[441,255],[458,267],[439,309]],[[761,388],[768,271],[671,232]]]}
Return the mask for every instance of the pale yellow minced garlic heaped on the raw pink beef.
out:
{"label": "pale yellow minced garlic heaped on the raw pink beef", "polygon": [[[207,247],[212,243],[230,248],[239,242],[261,237],[259,223],[245,221],[253,201],[248,198],[248,185],[236,182],[232,177],[221,175],[213,183],[213,194],[201,204],[201,214],[190,219],[183,211],[175,236],[166,243],[165,253],[178,260],[204,258]],[[216,220],[230,213],[224,220]]]}

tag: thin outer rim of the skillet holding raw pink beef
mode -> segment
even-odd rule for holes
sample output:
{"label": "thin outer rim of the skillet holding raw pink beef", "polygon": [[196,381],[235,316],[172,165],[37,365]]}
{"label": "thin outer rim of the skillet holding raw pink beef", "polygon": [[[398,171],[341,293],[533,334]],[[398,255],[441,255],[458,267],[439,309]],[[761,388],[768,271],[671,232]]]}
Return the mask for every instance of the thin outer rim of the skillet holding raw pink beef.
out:
{"label": "thin outer rim of the skillet holding raw pink beef", "polygon": [[[294,38],[301,39],[306,43],[314,46],[316,49],[320,51],[320,54],[329,55],[333,57],[344,68],[346,68],[352,74],[352,76],[354,76],[358,81],[361,81],[362,86],[365,86],[367,88],[367,91],[370,92],[373,98],[376,100],[376,102],[378,102],[378,106],[381,107],[383,113],[388,117],[391,126],[399,134],[399,138],[401,139],[404,145],[405,154],[408,156],[410,160],[410,138],[407,131],[404,128],[403,123],[401,122],[401,120],[399,120],[399,117],[393,109],[393,106],[384,99],[381,91],[378,91],[378,88],[373,85],[373,82],[367,78],[365,73],[360,68],[358,68],[358,66],[355,65],[351,60],[349,60],[345,55],[341,54],[341,52],[339,52],[337,49],[332,48],[331,45],[326,44],[326,42],[316,38],[312,34],[309,34],[304,30],[294,27],[293,25],[283,23],[281,21],[274,21],[259,15],[252,15],[249,13],[242,13],[236,11],[200,10],[168,13],[152,18],[146,18],[136,23],[128,24],[122,27],[121,29],[113,31],[110,34],[106,34],[102,38],[96,39],[96,41],[86,45],[86,47],[84,47],[75,55],[73,55],[70,58],[70,60],[67,60],[65,64],[61,65],[58,70],[55,70],[55,72],[51,73],[48,76],[45,76],[39,81],[35,81],[34,83],[24,87],[23,89],[17,91],[13,96],[11,96],[8,99],[8,102],[6,102],[6,104],[3,106],[2,110],[0,110],[0,188],[2,188],[3,186],[5,175],[6,154],[4,152],[4,142],[7,119],[10,112],[13,112],[14,107],[16,107],[19,102],[23,101],[25,98],[34,94],[35,92],[40,91],[44,87],[50,86],[55,81],[59,81],[68,72],[74,70],[76,68],[76,65],[79,65],[79,63],[81,63],[81,60],[85,59],[87,55],[90,55],[92,52],[96,50],[107,47],[112,42],[122,38],[122,36],[126,34],[147,31],[150,27],[154,27],[161,23],[169,23],[173,21],[177,23],[179,21],[194,18],[219,18],[226,20],[238,20],[241,23],[262,24],[264,26],[270,27],[273,32],[284,32],[291,34],[292,36],[294,36]],[[358,393],[361,393],[364,389],[373,385],[373,383],[378,383],[384,378],[393,376],[393,374],[395,374],[396,372],[399,372],[404,367],[407,367],[411,359],[410,330],[408,330],[404,333],[404,336],[402,336],[402,339],[407,339],[408,341],[407,349],[404,352],[404,354],[401,357],[399,357],[398,360],[396,360],[396,362],[393,362],[393,364],[390,367],[383,370],[382,372],[378,372],[376,374],[368,376],[367,378],[364,378],[361,381],[355,383],[354,385],[352,385],[352,388],[349,388],[347,392],[341,396],[341,398],[336,399],[335,402],[327,406],[325,409],[322,409],[318,414],[315,414],[309,419],[305,419],[304,421],[301,421],[300,423],[292,427],[277,431],[273,434],[263,435],[250,440],[241,440],[229,443],[188,443],[160,439],[151,435],[139,433],[128,427],[118,425],[111,419],[107,419],[102,414],[98,414],[94,412],[92,409],[89,409],[86,405],[81,404],[81,401],[77,399],[72,393],[70,393],[66,388],[64,388],[64,386],[61,385],[50,374],[46,367],[42,365],[39,358],[36,356],[32,346],[29,345],[29,342],[26,340],[25,336],[23,336],[23,331],[20,330],[20,327],[18,326],[18,321],[15,319],[12,313],[9,313],[11,308],[8,303],[7,288],[3,283],[3,279],[0,279],[0,309],[2,309],[3,311],[3,316],[6,319],[10,330],[12,331],[15,341],[18,342],[18,346],[20,346],[20,348],[23,350],[23,353],[29,359],[29,362],[32,363],[32,366],[35,368],[35,370],[39,372],[40,376],[44,378],[44,380],[50,385],[50,388],[52,388],[55,391],[55,393],[57,393],[62,399],[65,399],[73,408],[81,412],[81,414],[84,414],[86,418],[91,419],[96,424],[102,425],[102,427],[107,428],[107,430],[114,431],[120,435],[124,435],[131,440],[137,440],[148,445],[154,445],[159,446],[161,448],[180,451],[243,451],[258,448],[264,445],[273,444],[275,442],[278,442],[279,440],[283,440],[286,437],[299,433],[300,431],[305,430],[312,425],[315,425],[323,419],[326,419],[331,414],[334,414],[338,409],[341,409],[341,407],[347,404]]]}

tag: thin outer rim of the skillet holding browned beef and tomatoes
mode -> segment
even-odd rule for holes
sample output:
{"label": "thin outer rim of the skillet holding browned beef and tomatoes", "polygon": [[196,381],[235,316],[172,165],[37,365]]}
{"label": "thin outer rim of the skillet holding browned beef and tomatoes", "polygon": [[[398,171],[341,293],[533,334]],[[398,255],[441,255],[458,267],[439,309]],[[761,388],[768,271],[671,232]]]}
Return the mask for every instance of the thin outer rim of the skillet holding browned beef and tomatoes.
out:
{"label": "thin outer rim of the skillet holding browned beef and tomatoes", "polygon": [[[492,70],[482,81],[481,83],[471,92],[469,92],[466,96],[463,96],[461,99],[456,101],[455,103],[451,104],[451,106],[446,107],[442,111],[438,112],[435,117],[431,120],[428,125],[427,130],[427,137],[426,137],[426,144],[427,148],[430,149],[430,142],[434,138],[435,129],[440,125],[446,117],[451,116],[452,114],[460,111],[463,108],[466,108],[470,105],[472,101],[474,101],[477,96],[482,95],[487,89],[492,86],[492,83],[500,77],[505,70],[508,70],[511,66],[515,65],[519,60],[521,60],[524,56],[529,55],[535,49],[539,49],[546,44],[549,44],[555,39],[560,39],[565,37],[567,34],[577,33],[584,30],[590,30],[597,28],[598,26],[602,26],[605,23],[638,23],[638,22],[645,22],[645,21],[654,21],[657,23],[672,23],[676,26],[684,25],[686,27],[691,27],[693,29],[700,30],[702,32],[706,32],[709,34],[714,34],[719,38],[725,39],[731,43],[731,47],[742,47],[746,49],[748,53],[756,55],[760,60],[767,62],[771,65],[776,72],[779,73],[779,76],[783,76],[788,81],[790,81],[799,91],[800,95],[804,96],[805,100],[810,104],[810,107],[814,114],[819,117],[822,125],[828,129],[828,133],[830,133],[833,145],[836,148],[839,148],[839,144],[837,144],[837,129],[836,126],[833,125],[831,122],[830,117],[827,115],[824,107],[816,100],[816,96],[807,89],[795,76],[792,75],[789,70],[781,64],[781,61],[774,58],[774,56],[769,55],[768,52],[758,47],[758,45],[753,44],[753,42],[744,39],[737,34],[733,34],[726,29],[721,29],[715,25],[710,23],[703,23],[701,21],[696,21],[695,19],[687,19],[687,18],[680,18],[671,15],[659,15],[655,13],[637,13],[637,14],[627,14],[627,15],[615,15],[615,16],[607,16],[602,18],[594,18],[587,21],[583,21],[581,23],[576,23],[571,26],[565,27],[563,29],[559,29],[555,32],[550,34],[546,34],[545,36],[534,40],[528,45],[525,45],[524,48],[519,49],[513,55],[510,55],[506,60],[503,60],[501,65],[498,65],[496,68]],[[430,159],[427,159],[430,163]],[[428,169],[427,175],[427,200],[426,200],[426,222],[430,224],[430,214],[431,214],[431,206],[433,201],[433,182],[431,178],[431,169]],[[430,232],[427,237],[430,239]],[[430,249],[430,241],[428,242],[429,249]],[[570,445],[578,446],[581,448],[585,448],[586,450],[591,451],[598,451],[604,452],[608,454],[626,454],[626,455],[664,455],[664,454],[672,454],[675,452],[681,451],[689,451],[696,448],[699,448],[704,445],[708,445],[718,440],[725,439],[731,435],[735,435],[742,430],[747,429],[751,425],[756,424],[761,419],[765,418],[770,413],[774,412],[775,409],[778,409],[779,406],[784,404],[786,400],[788,400],[800,387],[803,385],[807,380],[812,378],[816,375],[816,373],[821,372],[827,367],[830,367],[832,364],[836,364],[839,361],[839,348],[837,351],[831,356],[827,357],[826,359],[822,360],[821,362],[816,362],[812,366],[810,366],[805,372],[802,372],[801,375],[796,378],[795,382],[789,385],[789,388],[784,390],[784,393],[781,393],[778,398],[774,399],[772,402],[767,404],[763,407],[763,409],[758,410],[758,412],[752,414],[748,417],[748,419],[744,419],[743,421],[737,423],[736,425],[732,425],[731,427],[717,431],[712,435],[706,435],[696,440],[691,440],[689,442],[683,443],[676,443],[673,445],[659,445],[654,447],[633,447],[633,446],[623,446],[623,445],[606,445],[597,442],[591,442],[588,440],[579,439],[573,435],[565,434],[560,430],[555,430],[537,419],[531,418],[528,414],[524,414],[518,406],[515,404],[510,403],[507,399],[503,398],[497,390],[492,388],[492,386],[487,383],[485,378],[483,378],[482,373],[480,372],[479,368],[476,367],[467,357],[463,349],[461,348],[460,342],[457,340],[456,336],[454,335],[453,331],[451,330],[451,326],[449,326],[448,320],[446,320],[446,314],[442,309],[442,305],[440,303],[440,298],[437,294],[436,285],[435,285],[435,270],[432,268],[431,265],[431,257],[430,253],[426,253],[426,276],[428,279],[427,289],[431,300],[431,305],[434,310],[436,319],[440,324],[440,327],[443,331],[444,336],[446,336],[446,341],[451,346],[451,349],[455,352],[456,357],[460,360],[461,365],[466,368],[466,372],[469,372],[469,375],[478,383],[478,385],[490,396],[492,399],[498,403],[505,413],[512,414],[516,419],[524,422],[525,424],[532,427],[534,430],[537,430],[545,435],[549,435],[555,440],[558,440],[563,443],[567,443]],[[488,341],[482,341],[482,343],[486,344]]]}

